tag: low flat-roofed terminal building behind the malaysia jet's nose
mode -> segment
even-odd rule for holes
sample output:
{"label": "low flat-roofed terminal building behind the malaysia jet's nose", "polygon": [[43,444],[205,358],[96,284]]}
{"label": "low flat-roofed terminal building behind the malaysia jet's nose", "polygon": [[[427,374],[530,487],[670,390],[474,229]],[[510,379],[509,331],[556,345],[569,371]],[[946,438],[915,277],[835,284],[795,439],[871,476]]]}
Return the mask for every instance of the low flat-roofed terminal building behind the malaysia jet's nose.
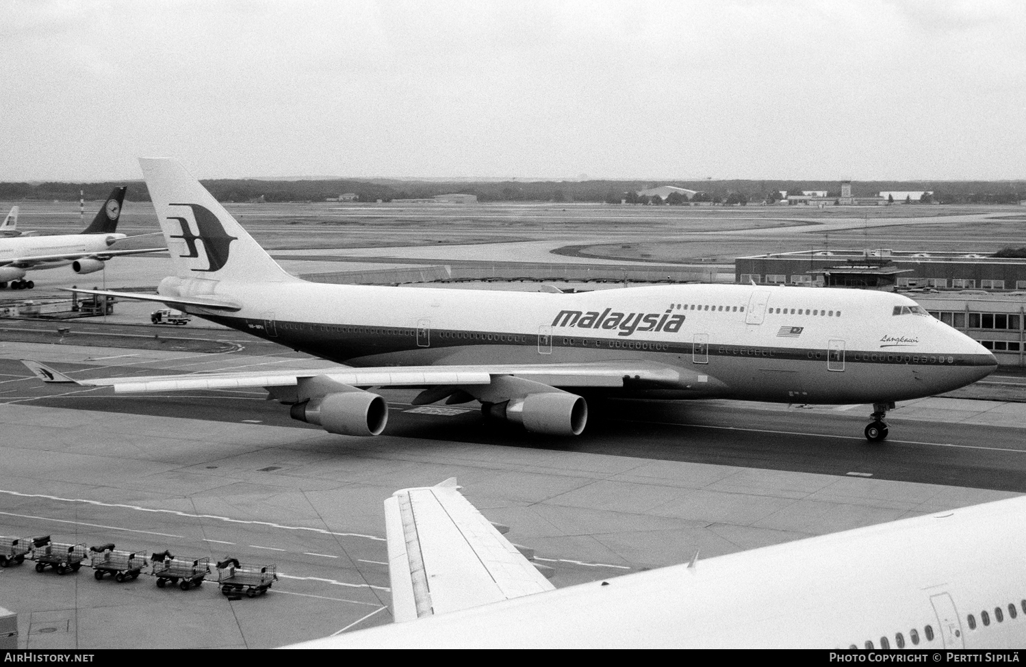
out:
{"label": "low flat-roofed terminal building behind the malaysia jet's nose", "polygon": [[991,350],[1026,365],[1026,259],[983,252],[819,249],[738,258],[739,283],[891,289]]}

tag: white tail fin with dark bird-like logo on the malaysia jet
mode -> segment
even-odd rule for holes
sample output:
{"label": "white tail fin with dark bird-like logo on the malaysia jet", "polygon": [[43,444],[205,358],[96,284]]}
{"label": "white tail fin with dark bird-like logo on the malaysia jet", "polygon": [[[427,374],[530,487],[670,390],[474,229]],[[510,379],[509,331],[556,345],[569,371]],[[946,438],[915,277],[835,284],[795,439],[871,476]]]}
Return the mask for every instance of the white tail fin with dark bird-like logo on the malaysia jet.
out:
{"label": "white tail fin with dark bird-like logo on the malaysia jet", "polygon": [[140,158],[180,278],[293,282],[231,213],[170,158]]}

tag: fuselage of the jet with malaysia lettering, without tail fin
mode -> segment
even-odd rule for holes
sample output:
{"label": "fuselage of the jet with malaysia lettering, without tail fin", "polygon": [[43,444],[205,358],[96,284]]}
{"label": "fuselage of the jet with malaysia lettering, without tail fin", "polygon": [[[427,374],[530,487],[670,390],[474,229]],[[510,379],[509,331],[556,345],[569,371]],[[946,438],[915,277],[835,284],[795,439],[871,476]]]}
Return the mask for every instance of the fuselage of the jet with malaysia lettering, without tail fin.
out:
{"label": "fuselage of the jet with malaysia lettering, without tail fin", "polygon": [[[355,366],[643,359],[673,386],[620,392],[880,402],[964,386],[996,367],[961,332],[890,292],[670,285],[576,295],[168,278],[161,293],[243,305],[200,316]],[[920,312],[913,312],[918,310]]]}

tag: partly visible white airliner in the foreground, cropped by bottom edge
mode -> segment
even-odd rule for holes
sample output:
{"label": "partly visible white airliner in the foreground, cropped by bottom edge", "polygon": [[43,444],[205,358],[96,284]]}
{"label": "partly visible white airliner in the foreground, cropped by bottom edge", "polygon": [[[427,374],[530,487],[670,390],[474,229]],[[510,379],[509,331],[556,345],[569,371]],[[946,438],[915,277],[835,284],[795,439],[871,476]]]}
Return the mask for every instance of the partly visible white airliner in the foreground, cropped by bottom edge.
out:
{"label": "partly visible white airliner in the foreground, cropped by bottom edge", "polygon": [[455,481],[385,502],[396,622],[289,648],[1026,648],[1026,497],[555,590]]}

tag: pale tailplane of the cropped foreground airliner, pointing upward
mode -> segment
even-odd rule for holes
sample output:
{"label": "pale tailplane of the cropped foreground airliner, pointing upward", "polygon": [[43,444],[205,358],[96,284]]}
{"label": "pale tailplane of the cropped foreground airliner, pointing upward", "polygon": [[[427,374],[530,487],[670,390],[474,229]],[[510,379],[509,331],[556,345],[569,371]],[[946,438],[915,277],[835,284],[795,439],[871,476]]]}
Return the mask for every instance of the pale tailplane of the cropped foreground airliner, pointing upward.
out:
{"label": "pale tailplane of the cropped foreground airliner, pointing upward", "polygon": [[458,488],[451,478],[385,501],[396,622],[555,588]]}

